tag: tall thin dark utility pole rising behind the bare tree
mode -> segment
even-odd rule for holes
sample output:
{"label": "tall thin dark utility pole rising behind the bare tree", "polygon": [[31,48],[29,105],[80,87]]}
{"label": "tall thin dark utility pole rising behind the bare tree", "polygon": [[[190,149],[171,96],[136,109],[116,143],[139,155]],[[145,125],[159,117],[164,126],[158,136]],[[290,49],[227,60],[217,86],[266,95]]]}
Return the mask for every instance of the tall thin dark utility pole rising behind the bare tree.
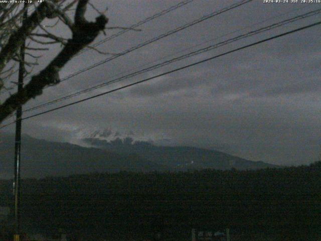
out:
{"label": "tall thin dark utility pole rising behind the bare tree", "polygon": [[[27,1],[26,1],[27,2]],[[28,17],[28,4],[25,2],[25,12],[22,17],[22,25],[25,24]],[[20,62],[19,62],[19,79],[18,79],[18,92],[24,86],[25,75],[25,45],[26,39],[20,47]],[[22,106],[17,109],[17,122],[16,122],[16,140],[15,140],[15,181],[14,181],[14,195],[15,195],[15,233],[14,241],[20,241],[20,162],[21,162],[21,117]]]}

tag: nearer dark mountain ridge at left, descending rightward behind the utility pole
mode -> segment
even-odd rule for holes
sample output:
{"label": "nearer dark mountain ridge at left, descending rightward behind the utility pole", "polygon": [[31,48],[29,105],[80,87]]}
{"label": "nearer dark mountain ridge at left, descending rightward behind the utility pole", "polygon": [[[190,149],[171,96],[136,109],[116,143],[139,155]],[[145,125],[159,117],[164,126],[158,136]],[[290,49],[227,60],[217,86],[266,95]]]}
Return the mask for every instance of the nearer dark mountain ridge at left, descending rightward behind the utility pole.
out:
{"label": "nearer dark mountain ridge at left, descending rightward behind the utility pole", "polygon": [[[0,179],[12,178],[14,135],[1,134]],[[148,172],[168,170],[136,154],[120,155],[98,148],[22,137],[22,177],[68,176],[94,172]]]}

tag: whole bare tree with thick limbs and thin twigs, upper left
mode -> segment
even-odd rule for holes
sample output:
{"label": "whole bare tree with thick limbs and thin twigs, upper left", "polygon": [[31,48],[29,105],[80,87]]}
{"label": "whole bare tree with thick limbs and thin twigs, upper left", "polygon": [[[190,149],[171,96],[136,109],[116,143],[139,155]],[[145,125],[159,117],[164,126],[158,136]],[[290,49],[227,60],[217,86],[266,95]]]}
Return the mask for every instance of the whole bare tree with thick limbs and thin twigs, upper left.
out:
{"label": "whole bare tree with thick limbs and thin twigs, upper left", "polygon": [[[108,19],[89,1],[45,0],[40,4],[29,4],[29,14],[24,24],[21,22],[21,17],[27,11],[27,7],[22,4],[0,3],[0,91],[8,90],[5,82],[8,82],[17,71],[16,64],[22,61],[20,48],[25,40],[27,40],[26,55],[32,59],[24,61],[25,74],[31,74],[30,81],[22,91],[10,94],[0,103],[0,123],[20,105],[42,94],[46,86],[59,83],[59,71],[79,51],[89,46],[101,31],[104,31]],[[86,8],[89,5],[98,13],[94,22],[89,22],[85,18]],[[42,24],[48,19],[56,21],[52,27],[59,26],[58,23],[66,25],[72,37],[67,39],[50,32]],[[40,72],[32,75],[32,68],[37,65],[40,58],[37,52],[48,50],[47,46],[52,44],[61,44],[60,52],[53,56],[51,62]]]}

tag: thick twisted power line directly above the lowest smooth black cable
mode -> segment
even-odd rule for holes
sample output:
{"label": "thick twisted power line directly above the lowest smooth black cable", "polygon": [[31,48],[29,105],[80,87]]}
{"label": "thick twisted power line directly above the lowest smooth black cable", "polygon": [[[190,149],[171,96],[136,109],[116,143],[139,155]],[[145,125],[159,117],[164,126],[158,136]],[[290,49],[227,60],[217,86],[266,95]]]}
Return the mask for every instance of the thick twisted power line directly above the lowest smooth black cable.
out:
{"label": "thick twisted power line directly above the lowest smooth black cable", "polygon": [[107,82],[105,82],[105,83],[101,83],[101,84],[92,86],[92,87],[90,87],[90,88],[86,88],[86,89],[83,89],[83,90],[81,90],[81,91],[78,91],[78,92],[76,92],[76,93],[73,93],[73,94],[70,94],[70,95],[66,95],[66,96],[63,96],[63,97],[60,97],[60,98],[51,100],[51,101],[49,101],[49,102],[46,102],[46,103],[43,103],[43,104],[40,104],[40,105],[31,107],[31,108],[29,108],[29,109],[26,109],[25,111],[32,111],[32,110],[35,110],[35,109],[39,109],[39,108],[48,106],[48,105],[50,105],[50,104],[53,104],[53,103],[57,103],[57,102],[66,100],[66,99],[75,97],[75,96],[77,96],[77,95],[83,94],[83,93],[90,92],[90,91],[92,91],[92,90],[95,90],[95,89],[98,89],[98,88],[107,86],[107,85],[112,84],[112,83],[115,83],[115,82],[119,82],[119,81],[121,81],[121,80],[124,80],[124,79],[130,78],[130,77],[136,76],[136,75],[138,75],[138,74],[145,73],[145,72],[147,72],[147,71],[151,71],[151,70],[154,70],[154,69],[157,69],[157,68],[160,68],[160,67],[169,65],[169,64],[171,64],[171,63],[174,63],[174,62],[177,62],[177,61],[180,61],[180,60],[183,60],[183,59],[186,59],[186,58],[189,58],[189,57],[192,57],[192,56],[195,56],[195,55],[198,55],[198,54],[201,54],[201,53],[204,53],[204,52],[207,52],[207,51],[210,51],[210,50],[219,48],[219,47],[222,47],[222,46],[227,45],[227,44],[230,44],[230,43],[232,43],[232,42],[235,42],[235,41],[238,41],[238,40],[241,40],[241,39],[244,39],[244,38],[248,38],[248,37],[251,37],[251,36],[253,36],[253,35],[256,35],[256,34],[259,34],[259,33],[265,32],[265,31],[269,31],[269,30],[271,30],[271,29],[278,28],[278,27],[280,27],[280,26],[283,26],[283,25],[286,25],[286,24],[289,24],[289,23],[293,23],[293,22],[295,22],[295,21],[298,21],[298,20],[301,20],[301,19],[305,19],[305,18],[314,16],[314,15],[317,15],[317,14],[320,14],[320,13],[321,13],[321,9],[318,9],[318,10],[315,10],[315,11],[311,11],[311,12],[305,13],[305,14],[303,14],[303,15],[299,15],[299,16],[296,16],[296,17],[293,17],[293,18],[290,18],[290,19],[287,19],[287,20],[284,20],[284,21],[281,21],[281,22],[278,22],[278,23],[275,23],[275,24],[272,24],[272,25],[269,25],[269,26],[260,28],[260,29],[257,29],[257,30],[255,30],[255,31],[250,31],[250,32],[248,32],[248,33],[246,33],[246,34],[242,34],[242,35],[239,35],[239,36],[237,36],[237,37],[234,37],[234,38],[225,40],[225,41],[223,41],[223,42],[220,42],[220,43],[217,43],[217,44],[214,44],[214,45],[210,45],[210,46],[207,46],[207,47],[205,47],[205,48],[201,48],[201,49],[199,49],[199,50],[190,52],[190,53],[188,53],[188,54],[184,54],[184,55],[182,55],[182,56],[173,58],[173,59],[171,59],[171,60],[168,60],[168,61],[165,61],[165,62],[162,62],[162,63],[158,63],[158,64],[156,64],[156,65],[150,66],[150,67],[148,67],[148,68],[141,69],[141,70],[139,70],[139,71],[135,71],[135,72],[133,72],[133,73],[124,75],[124,76],[122,76],[122,77],[118,77],[118,78],[116,78],[116,79],[107,81]]}

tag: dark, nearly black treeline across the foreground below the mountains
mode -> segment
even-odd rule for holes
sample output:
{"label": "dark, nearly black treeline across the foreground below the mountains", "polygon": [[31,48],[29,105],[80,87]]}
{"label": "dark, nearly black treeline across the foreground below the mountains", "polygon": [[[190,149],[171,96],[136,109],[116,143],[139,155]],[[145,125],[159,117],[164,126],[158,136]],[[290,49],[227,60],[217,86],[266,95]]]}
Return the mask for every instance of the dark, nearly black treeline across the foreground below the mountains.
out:
{"label": "dark, nearly black treeline across the foreground below the mountains", "polygon": [[[25,230],[63,228],[74,235],[182,231],[186,237],[192,227],[230,227],[238,240],[249,240],[251,235],[261,235],[261,240],[265,236],[315,240],[321,237],[320,178],[318,162],[255,171],[25,179],[22,226]],[[11,202],[11,182],[2,181],[1,187],[1,201]]]}

